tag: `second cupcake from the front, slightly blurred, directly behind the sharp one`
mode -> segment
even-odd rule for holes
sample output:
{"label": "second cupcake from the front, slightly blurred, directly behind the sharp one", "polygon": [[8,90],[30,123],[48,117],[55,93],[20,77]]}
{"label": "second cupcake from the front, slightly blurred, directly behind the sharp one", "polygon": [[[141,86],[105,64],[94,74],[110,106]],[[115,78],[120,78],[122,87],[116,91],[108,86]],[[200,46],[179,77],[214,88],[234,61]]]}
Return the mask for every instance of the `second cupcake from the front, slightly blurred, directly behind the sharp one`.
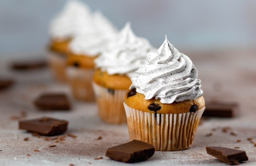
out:
{"label": "second cupcake from the front, slightly blurred, directly behind the sharp one", "polygon": [[127,23],[96,59],[93,88],[102,120],[126,122],[123,97],[132,84],[130,78],[154,50],[146,39],[137,37]]}

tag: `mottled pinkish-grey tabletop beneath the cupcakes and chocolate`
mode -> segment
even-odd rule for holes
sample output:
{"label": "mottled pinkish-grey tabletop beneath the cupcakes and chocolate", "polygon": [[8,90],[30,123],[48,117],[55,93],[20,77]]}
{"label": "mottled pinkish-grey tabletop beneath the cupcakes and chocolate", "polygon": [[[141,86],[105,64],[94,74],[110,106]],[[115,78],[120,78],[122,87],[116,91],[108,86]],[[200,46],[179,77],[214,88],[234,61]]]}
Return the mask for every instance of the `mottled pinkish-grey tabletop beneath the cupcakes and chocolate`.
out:
{"label": "mottled pinkish-grey tabletop beneath the cupcakes and chocolate", "polygon": [[[15,79],[11,88],[0,91],[1,165],[226,165],[208,155],[205,146],[240,147],[249,158],[241,165],[256,165],[256,146],[247,140],[252,137],[256,142],[256,51],[184,53],[199,71],[198,78],[202,80],[205,100],[238,102],[240,114],[235,118],[203,118],[194,144],[189,149],[155,152],[147,161],[133,164],[105,157],[107,148],[129,141],[126,124],[102,122],[97,116],[97,105],[75,101],[69,86],[55,82],[48,68],[11,71],[8,60],[1,60],[1,74],[11,75]],[[72,101],[72,110],[38,111],[33,100],[42,92],[67,93]],[[25,117],[21,116],[22,111],[26,112]],[[31,133],[18,130],[18,120],[42,116],[69,120],[67,133],[77,137],[67,136],[62,141],[64,143],[55,143],[55,140],[33,137]],[[230,127],[228,132],[222,131],[224,127]],[[236,134],[232,135],[231,132]],[[29,139],[24,141],[26,137]],[[241,141],[237,142],[237,139]],[[97,157],[103,158],[96,160]]]}

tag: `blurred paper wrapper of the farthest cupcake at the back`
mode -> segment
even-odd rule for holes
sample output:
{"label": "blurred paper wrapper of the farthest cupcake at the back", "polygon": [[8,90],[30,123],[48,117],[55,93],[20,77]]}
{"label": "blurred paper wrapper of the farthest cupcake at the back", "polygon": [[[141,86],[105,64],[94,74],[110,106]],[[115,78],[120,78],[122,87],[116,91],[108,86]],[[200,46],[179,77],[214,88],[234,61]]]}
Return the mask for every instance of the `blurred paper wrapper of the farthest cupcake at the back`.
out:
{"label": "blurred paper wrapper of the farthest cupcake at the back", "polygon": [[65,67],[66,67],[66,61],[67,61],[66,56],[62,56],[53,51],[48,51],[47,54],[48,54],[47,56],[48,61],[55,79],[60,82],[66,82],[67,81],[67,77],[65,73]]}

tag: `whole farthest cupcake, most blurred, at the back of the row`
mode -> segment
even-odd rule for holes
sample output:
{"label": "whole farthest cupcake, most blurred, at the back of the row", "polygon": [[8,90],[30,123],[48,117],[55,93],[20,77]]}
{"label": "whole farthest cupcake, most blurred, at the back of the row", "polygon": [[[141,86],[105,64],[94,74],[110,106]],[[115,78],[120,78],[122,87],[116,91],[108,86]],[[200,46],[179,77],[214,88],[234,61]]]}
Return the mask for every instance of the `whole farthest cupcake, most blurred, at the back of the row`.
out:
{"label": "whole farthest cupcake, most blurred, at the back of the row", "polygon": [[87,22],[91,17],[90,9],[82,2],[70,0],[66,3],[63,11],[59,13],[50,25],[50,46],[48,59],[53,75],[56,80],[65,82],[65,64],[69,43],[73,39],[81,23]]}

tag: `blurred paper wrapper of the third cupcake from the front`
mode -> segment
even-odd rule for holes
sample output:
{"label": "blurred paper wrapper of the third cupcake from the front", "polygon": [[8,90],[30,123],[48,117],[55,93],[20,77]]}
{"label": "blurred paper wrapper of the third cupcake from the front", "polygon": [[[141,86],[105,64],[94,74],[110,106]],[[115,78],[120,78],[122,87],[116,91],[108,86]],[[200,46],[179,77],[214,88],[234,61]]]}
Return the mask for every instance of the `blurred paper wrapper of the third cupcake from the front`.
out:
{"label": "blurred paper wrapper of the third cupcake from the front", "polygon": [[75,99],[81,101],[95,101],[92,87],[93,68],[86,69],[68,66],[66,67],[66,74]]}

